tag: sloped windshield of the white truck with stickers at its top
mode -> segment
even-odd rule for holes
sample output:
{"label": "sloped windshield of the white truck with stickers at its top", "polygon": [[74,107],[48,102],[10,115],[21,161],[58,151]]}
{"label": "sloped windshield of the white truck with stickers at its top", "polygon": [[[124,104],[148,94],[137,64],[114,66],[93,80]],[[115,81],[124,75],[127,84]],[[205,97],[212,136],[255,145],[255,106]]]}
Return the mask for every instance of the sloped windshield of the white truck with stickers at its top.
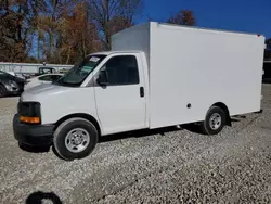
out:
{"label": "sloped windshield of the white truck with stickers at its top", "polygon": [[79,87],[106,55],[89,55],[73,66],[55,85]]}

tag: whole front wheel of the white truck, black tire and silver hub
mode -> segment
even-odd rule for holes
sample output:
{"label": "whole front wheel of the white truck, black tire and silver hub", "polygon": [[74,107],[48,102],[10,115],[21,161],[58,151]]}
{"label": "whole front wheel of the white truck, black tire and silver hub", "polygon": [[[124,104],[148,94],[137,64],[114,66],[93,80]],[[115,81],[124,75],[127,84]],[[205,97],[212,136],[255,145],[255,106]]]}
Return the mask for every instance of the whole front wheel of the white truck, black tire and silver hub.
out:
{"label": "whole front wheel of the white truck, black tire and silver hub", "polygon": [[98,143],[98,130],[83,118],[70,118],[55,130],[53,145],[64,160],[72,161],[88,156]]}

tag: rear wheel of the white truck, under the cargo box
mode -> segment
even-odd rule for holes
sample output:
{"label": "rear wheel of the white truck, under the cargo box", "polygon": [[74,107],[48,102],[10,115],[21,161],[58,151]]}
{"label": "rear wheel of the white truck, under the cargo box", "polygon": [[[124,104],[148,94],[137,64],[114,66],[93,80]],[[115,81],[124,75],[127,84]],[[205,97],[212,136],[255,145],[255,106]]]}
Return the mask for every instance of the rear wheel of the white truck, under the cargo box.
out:
{"label": "rear wheel of the white truck, under the cargo box", "polygon": [[[214,117],[221,118],[220,123],[214,122]],[[211,106],[206,114],[205,120],[201,124],[204,133],[212,136],[222,131],[225,126],[227,114],[221,107]],[[214,123],[212,123],[214,122]],[[212,124],[212,125],[211,125]],[[216,127],[216,128],[215,128]]]}

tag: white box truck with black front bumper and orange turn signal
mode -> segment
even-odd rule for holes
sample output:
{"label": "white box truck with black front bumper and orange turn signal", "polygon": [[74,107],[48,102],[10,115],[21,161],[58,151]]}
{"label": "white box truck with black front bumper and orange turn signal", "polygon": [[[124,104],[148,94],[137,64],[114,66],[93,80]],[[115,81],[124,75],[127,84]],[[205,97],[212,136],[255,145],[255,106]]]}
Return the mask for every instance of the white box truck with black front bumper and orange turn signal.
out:
{"label": "white box truck with black front bumper and orange turn signal", "polygon": [[260,111],[264,37],[145,23],[112,37],[59,81],[21,95],[14,136],[53,144],[65,160],[99,137],[199,123],[220,132],[233,115]]}

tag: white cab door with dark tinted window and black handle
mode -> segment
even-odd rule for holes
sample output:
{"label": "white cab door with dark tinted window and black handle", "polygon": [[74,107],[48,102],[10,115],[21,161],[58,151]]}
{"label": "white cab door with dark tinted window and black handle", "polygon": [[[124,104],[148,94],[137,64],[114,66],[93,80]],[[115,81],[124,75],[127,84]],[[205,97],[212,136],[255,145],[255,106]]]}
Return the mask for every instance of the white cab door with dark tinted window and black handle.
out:
{"label": "white cab door with dark tinted window and black handle", "polygon": [[144,76],[139,54],[115,54],[98,72],[106,85],[94,86],[96,112],[103,135],[146,127]]}

